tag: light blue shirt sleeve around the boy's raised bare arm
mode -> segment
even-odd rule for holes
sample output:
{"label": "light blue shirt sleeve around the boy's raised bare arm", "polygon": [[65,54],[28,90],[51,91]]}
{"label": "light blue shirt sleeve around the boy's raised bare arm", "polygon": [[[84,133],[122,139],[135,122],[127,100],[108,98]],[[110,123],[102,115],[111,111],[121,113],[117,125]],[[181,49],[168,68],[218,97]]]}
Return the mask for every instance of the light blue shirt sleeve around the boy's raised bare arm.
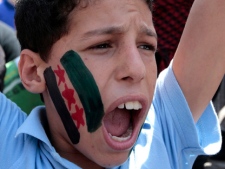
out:
{"label": "light blue shirt sleeve around the boy's raised bare arm", "polygon": [[172,62],[158,78],[154,107],[170,161],[186,168],[201,154],[212,155],[221,147],[221,131],[212,102],[197,123],[174,76]]}

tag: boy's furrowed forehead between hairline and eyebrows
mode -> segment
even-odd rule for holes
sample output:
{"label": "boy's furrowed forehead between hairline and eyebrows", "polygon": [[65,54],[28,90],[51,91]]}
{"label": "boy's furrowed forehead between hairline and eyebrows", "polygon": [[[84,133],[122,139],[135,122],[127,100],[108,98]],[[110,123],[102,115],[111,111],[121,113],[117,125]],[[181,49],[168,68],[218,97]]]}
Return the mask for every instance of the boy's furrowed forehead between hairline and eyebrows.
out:
{"label": "boy's furrowed forehead between hairline and eyebrows", "polygon": [[[76,27],[104,27],[136,22],[140,27],[153,27],[152,13],[145,0],[83,1],[70,15],[70,25]],[[121,27],[122,28],[122,27]]]}

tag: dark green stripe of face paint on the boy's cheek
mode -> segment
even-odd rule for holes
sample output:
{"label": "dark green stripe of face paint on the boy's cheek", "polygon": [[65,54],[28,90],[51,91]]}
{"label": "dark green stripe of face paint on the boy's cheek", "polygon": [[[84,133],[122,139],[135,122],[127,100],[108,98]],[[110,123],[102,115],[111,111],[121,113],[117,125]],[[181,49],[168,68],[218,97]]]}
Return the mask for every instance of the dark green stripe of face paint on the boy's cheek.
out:
{"label": "dark green stripe of face paint on the boy's cheek", "polygon": [[66,52],[60,61],[83,105],[88,131],[94,132],[101,126],[104,115],[101,95],[94,77],[80,56],[72,50]]}

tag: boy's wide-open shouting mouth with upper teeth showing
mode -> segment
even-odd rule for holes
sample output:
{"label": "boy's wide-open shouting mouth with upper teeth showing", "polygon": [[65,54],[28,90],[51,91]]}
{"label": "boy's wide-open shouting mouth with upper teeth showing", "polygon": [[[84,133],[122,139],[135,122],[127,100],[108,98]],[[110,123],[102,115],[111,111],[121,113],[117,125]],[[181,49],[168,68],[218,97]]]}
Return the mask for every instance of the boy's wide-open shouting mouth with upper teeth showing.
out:
{"label": "boy's wide-open shouting mouth with upper teeth showing", "polygon": [[103,130],[108,145],[115,150],[131,148],[142,125],[142,114],[142,104],[139,101],[122,103],[107,113],[103,119]]}

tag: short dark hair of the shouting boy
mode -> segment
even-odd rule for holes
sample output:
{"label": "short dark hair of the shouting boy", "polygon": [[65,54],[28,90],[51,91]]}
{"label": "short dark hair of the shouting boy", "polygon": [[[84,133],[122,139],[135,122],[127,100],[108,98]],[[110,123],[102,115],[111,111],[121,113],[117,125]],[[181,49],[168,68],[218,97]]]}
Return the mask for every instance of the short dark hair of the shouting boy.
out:
{"label": "short dark hair of the shouting boy", "polygon": [[[69,14],[90,0],[18,0],[15,24],[21,49],[30,49],[48,60],[52,45],[69,31]],[[145,0],[152,11],[152,0]]]}

